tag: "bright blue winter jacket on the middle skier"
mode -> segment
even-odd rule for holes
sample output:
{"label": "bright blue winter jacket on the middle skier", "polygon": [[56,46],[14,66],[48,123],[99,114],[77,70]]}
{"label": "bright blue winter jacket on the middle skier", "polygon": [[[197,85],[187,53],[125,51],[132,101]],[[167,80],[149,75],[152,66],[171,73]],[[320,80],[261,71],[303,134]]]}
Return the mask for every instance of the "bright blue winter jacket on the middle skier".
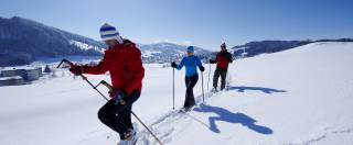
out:
{"label": "bright blue winter jacket on the middle skier", "polygon": [[185,75],[186,77],[192,77],[197,74],[197,66],[201,67],[201,60],[197,56],[185,56],[181,63],[176,66],[176,69],[180,70],[185,66]]}

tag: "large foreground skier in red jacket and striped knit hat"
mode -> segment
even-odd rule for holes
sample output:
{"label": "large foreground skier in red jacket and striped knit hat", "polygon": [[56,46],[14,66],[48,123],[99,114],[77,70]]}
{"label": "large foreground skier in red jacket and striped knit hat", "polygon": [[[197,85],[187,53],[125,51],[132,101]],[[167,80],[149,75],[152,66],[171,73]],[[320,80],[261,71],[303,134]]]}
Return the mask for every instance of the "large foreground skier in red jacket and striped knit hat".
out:
{"label": "large foreground skier in red jacket and striped knit hat", "polygon": [[103,75],[109,71],[114,90],[109,91],[111,99],[98,111],[98,119],[119,133],[119,145],[130,144],[137,138],[129,110],[140,97],[145,76],[141,52],[136,44],[124,40],[118,31],[109,24],[104,24],[100,27],[100,36],[108,48],[99,64],[74,65],[71,71],[75,75]]}

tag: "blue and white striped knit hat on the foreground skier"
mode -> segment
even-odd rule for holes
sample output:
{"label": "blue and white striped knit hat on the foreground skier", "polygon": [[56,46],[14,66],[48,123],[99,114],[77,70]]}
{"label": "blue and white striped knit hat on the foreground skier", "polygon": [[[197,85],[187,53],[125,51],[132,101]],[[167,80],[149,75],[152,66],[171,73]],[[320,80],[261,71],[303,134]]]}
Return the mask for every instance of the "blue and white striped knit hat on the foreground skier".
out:
{"label": "blue and white striped knit hat on the foreground skier", "polygon": [[117,31],[116,27],[111,26],[108,23],[105,23],[100,27],[100,37],[103,41],[108,41],[108,40],[117,40],[119,44],[122,44],[122,37],[119,35],[119,32]]}

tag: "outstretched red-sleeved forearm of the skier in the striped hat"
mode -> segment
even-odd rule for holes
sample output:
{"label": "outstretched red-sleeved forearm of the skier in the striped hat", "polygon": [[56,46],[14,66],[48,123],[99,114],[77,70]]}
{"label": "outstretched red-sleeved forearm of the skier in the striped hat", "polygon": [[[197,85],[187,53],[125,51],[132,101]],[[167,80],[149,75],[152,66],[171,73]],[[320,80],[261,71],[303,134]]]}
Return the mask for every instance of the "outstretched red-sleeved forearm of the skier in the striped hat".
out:
{"label": "outstretched red-sleeved forearm of the skier in the striped hat", "polygon": [[108,60],[108,54],[105,54],[103,59],[99,62],[98,65],[85,65],[84,74],[92,74],[92,75],[100,75],[108,71],[108,66],[110,62]]}

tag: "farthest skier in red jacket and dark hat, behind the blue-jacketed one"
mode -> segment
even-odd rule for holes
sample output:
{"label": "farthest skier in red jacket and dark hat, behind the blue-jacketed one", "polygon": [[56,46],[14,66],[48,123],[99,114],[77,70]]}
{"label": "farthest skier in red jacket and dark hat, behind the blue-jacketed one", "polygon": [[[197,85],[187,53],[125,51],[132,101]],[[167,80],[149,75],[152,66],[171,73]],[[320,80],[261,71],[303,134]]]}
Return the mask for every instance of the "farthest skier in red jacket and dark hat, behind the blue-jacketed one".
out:
{"label": "farthest skier in red jacket and dark hat, behind the blue-jacketed one", "polygon": [[225,43],[221,45],[221,52],[217,53],[216,59],[210,59],[211,64],[217,64],[213,76],[213,91],[217,91],[218,78],[221,76],[221,90],[225,88],[228,65],[233,63],[232,54],[227,52]]}

